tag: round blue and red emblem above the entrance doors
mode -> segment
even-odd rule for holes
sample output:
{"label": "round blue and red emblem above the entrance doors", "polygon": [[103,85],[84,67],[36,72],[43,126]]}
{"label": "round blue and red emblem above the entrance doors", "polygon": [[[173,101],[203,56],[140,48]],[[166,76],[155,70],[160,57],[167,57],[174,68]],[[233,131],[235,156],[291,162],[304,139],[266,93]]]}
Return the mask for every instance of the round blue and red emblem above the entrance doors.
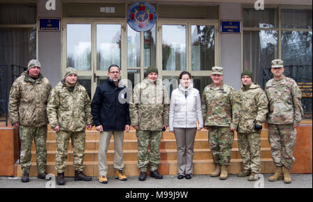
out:
{"label": "round blue and red emblem above the entrance doors", "polygon": [[150,3],[136,2],[127,10],[127,23],[134,31],[149,31],[157,22],[157,12]]}

